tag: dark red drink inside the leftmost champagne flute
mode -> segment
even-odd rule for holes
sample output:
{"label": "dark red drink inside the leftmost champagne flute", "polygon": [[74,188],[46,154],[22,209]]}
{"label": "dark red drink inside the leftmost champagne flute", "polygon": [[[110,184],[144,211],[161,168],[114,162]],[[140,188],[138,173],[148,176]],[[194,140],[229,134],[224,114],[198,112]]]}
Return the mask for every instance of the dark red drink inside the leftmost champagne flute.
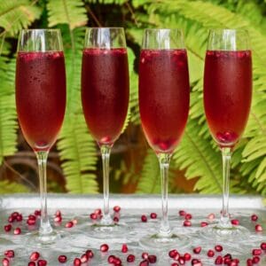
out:
{"label": "dark red drink inside the leftmost champagne flute", "polygon": [[62,51],[19,52],[16,104],[27,143],[35,151],[48,151],[56,141],[66,108]]}

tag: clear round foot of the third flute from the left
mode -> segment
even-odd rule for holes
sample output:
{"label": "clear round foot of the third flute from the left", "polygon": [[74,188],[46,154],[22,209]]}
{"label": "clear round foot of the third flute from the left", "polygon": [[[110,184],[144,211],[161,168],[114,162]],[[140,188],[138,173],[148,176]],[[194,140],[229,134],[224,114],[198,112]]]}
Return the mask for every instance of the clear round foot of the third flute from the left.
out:
{"label": "clear round foot of the third flute from the left", "polygon": [[139,245],[149,249],[183,249],[190,246],[191,240],[184,235],[170,234],[168,237],[160,236],[159,233],[145,236],[139,239]]}

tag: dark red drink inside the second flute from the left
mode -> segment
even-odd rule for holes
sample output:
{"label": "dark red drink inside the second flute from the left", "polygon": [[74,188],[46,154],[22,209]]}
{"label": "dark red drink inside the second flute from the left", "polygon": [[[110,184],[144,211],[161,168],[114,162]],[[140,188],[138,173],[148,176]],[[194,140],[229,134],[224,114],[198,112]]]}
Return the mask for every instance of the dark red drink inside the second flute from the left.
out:
{"label": "dark red drink inside the second flute from the left", "polygon": [[100,145],[120,136],[129,105],[126,49],[85,49],[82,57],[82,107],[91,135]]}

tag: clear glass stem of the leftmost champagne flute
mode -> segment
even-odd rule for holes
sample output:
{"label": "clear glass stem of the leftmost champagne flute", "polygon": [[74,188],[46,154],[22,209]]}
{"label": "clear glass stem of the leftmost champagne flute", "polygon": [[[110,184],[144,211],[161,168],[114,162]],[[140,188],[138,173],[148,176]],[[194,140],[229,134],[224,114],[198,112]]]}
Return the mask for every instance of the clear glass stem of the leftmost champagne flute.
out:
{"label": "clear glass stem of the leftmost champagne flute", "polygon": [[47,213],[47,181],[46,181],[46,165],[48,152],[36,152],[39,168],[40,180],[40,197],[41,197],[41,223],[39,228],[39,235],[45,236],[52,232],[51,223]]}

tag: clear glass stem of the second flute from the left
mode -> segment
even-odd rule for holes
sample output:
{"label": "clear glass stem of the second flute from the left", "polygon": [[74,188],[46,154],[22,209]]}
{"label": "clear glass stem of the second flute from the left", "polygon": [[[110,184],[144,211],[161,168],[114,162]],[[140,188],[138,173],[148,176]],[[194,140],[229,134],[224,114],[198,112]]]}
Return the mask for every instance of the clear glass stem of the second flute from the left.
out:
{"label": "clear glass stem of the second flute from the left", "polygon": [[111,145],[101,145],[100,150],[102,154],[103,162],[103,192],[104,192],[104,215],[101,220],[102,224],[110,225],[113,223],[109,212],[109,160],[112,146]]}

